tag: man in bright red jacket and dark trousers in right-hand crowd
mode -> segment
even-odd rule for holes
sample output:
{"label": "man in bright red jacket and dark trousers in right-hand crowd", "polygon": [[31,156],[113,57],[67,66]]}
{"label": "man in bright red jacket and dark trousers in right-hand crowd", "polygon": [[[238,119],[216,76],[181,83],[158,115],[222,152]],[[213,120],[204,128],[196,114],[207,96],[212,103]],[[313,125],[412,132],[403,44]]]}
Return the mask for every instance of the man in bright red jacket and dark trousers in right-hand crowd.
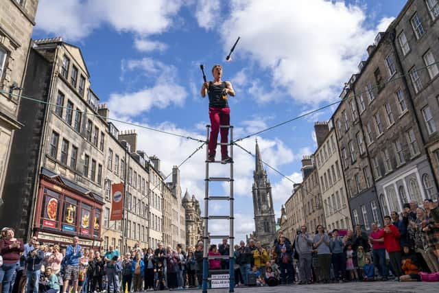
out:
{"label": "man in bright red jacket and dark trousers in right-hand crowd", "polygon": [[399,230],[392,224],[390,216],[384,217],[384,228],[381,230],[381,237],[384,238],[385,250],[389,253],[390,264],[395,275],[395,281],[403,275],[401,269],[401,246],[399,246]]}

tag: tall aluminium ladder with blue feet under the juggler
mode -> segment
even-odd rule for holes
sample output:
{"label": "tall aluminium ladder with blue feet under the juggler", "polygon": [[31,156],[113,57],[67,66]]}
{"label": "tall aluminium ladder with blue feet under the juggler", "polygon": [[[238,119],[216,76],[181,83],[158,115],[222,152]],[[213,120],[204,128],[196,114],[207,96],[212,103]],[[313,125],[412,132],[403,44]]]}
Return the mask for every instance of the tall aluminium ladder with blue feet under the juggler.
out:
{"label": "tall aluminium ladder with blue feet under the juggler", "polygon": [[[206,126],[206,141],[209,142],[209,129],[211,126]],[[206,148],[206,178],[204,179],[205,194],[204,194],[204,229],[203,229],[203,282],[202,282],[202,292],[207,293],[207,287],[211,277],[209,277],[209,272],[224,272],[229,274],[229,292],[234,292],[235,290],[235,258],[233,253],[233,246],[235,237],[233,237],[233,126],[219,126],[219,128],[229,128],[230,130],[230,143],[217,143],[217,145],[230,145],[230,177],[209,177],[209,164],[211,163],[221,163],[221,161],[209,161],[209,148]],[[208,143],[209,144],[209,143]],[[230,183],[230,195],[229,196],[209,196],[209,183],[210,182],[229,182]],[[209,201],[211,200],[228,200],[230,203],[230,213],[229,215],[209,215]],[[211,235],[209,233],[209,220],[228,220],[229,221],[229,235]],[[209,242],[210,239],[229,239],[229,255],[220,256],[209,256]],[[228,270],[209,270],[209,259],[228,259],[229,269]]]}

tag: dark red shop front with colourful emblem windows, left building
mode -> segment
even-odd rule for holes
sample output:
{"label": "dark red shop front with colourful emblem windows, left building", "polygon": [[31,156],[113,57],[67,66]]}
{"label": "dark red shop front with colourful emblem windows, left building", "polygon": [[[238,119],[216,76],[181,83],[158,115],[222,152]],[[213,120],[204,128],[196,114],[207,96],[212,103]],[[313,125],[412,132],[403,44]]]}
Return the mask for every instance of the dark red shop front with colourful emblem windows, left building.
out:
{"label": "dark red shop front with colourful emblem windows, left building", "polygon": [[34,234],[40,242],[67,246],[75,236],[80,245],[100,249],[102,196],[43,169],[40,177]]}

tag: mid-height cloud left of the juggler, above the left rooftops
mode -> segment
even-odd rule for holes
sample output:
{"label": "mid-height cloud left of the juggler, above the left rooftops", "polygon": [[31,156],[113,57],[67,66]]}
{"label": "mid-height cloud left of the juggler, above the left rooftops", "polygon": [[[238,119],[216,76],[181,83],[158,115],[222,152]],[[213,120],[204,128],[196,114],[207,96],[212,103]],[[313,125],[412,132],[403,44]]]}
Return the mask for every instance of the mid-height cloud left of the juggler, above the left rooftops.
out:
{"label": "mid-height cloud left of the juggler, above the left rooftops", "polygon": [[117,115],[134,117],[154,107],[163,109],[171,105],[184,104],[187,92],[176,82],[174,66],[165,65],[151,58],[124,60],[122,80],[131,71],[135,71],[137,76],[145,75],[145,78],[152,76],[156,79],[152,86],[146,86],[139,91],[110,94],[107,104]]}

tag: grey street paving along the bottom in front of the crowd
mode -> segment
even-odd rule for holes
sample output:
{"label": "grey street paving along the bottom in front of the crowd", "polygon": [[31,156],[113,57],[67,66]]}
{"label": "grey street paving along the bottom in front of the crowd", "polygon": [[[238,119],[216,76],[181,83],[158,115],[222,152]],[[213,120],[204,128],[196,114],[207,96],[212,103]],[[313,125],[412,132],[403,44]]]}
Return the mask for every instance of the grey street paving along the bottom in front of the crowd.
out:
{"label": "grey street paving along the bottom in front of the crowd", "polygon": [[[171,292],[202,292],[202,290],[172,290]],[[228,289],[209,289],[208,293],[227,293]],[[439,292],[439,282],[358,282],[358,283],[333,283],[313,285],[282,285],[275,287],[238,287],[237,293],[277,293],[277,292]]]}

